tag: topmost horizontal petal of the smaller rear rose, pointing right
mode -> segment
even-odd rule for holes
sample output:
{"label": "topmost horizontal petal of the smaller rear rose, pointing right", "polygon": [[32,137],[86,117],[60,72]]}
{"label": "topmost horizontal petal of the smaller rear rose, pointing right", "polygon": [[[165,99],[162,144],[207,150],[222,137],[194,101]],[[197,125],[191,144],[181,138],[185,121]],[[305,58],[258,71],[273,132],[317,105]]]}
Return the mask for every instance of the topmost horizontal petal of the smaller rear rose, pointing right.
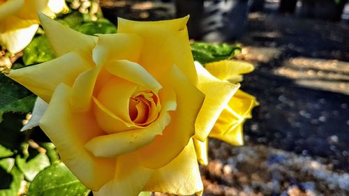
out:
{"label": "topmost horizontal petal of the smaller rear rose, pointing right", "polygon": [[251,63],[235,60],[223,60],[207,63],[205,64],[205,68],[209,71],[209,73],[220,80],[234,79],[235,81],[232,81],[233,83],[240,82],[236,81],[239,80],[237,75],[250,73],[254,69]]}

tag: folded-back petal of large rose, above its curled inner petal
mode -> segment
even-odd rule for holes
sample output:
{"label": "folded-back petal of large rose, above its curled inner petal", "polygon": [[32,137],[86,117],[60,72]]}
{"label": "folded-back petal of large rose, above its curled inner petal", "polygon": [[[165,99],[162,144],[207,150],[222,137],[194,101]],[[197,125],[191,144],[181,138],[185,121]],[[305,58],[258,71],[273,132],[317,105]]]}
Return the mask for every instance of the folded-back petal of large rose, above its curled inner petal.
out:
{"label": "folded-back petal of large rose, above its curled inner petal", "polygon": [[93,59],[96,65],[106,61],[128,60],[137,62],[142,49],[142,38],[136,34],[114,33],[98,34]]}

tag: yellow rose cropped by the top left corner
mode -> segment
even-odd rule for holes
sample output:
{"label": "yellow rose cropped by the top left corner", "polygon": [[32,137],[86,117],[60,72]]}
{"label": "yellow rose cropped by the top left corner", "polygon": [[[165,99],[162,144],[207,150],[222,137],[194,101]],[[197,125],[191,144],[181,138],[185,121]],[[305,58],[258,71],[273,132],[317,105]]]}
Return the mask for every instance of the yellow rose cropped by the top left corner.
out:
{"label": "yellow rose cropped by the top left corner", "polygon": [[0,0],[0,45],[20,52],[38,29],[38,11],[54,17],[65,8],[64,0]]}

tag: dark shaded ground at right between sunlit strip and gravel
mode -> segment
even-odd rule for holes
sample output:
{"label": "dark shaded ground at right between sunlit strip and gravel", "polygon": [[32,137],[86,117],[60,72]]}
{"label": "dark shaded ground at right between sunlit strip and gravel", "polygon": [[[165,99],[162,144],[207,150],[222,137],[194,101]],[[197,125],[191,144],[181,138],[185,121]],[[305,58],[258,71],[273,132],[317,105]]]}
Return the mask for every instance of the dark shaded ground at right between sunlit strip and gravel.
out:
{"label": "dark shaded ground at right between sunlit strip and gravel", "polygon": [[242,89],[260,102],[245,124],[249,141],[327,157],[348,171],[349,96],[304,88],[260,70],[245,77]]}

